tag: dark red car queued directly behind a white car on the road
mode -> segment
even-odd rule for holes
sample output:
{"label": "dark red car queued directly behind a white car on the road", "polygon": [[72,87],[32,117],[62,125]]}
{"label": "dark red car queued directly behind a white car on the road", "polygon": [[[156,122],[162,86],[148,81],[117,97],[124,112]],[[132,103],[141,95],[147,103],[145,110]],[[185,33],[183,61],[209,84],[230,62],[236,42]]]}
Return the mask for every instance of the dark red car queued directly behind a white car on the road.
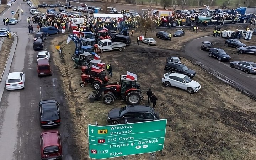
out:
{"label": "dark red car queued directly behind a white car on the road", "polygon": [[37,61],[37,75],[38,76],[51,76],[52,70],[50,68],[48,59],[39,59]]}

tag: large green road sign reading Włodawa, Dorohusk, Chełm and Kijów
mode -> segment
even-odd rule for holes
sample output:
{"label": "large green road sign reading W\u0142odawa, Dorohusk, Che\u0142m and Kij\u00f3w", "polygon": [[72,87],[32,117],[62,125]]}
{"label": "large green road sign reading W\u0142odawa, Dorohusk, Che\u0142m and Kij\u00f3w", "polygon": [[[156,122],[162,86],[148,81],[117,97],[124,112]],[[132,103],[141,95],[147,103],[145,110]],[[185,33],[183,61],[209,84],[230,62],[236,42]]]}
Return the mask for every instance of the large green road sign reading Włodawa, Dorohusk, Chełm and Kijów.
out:
{"label": "large green road sign reading W\u0142odawa, Dorohusk, Che\u0142m and Kij\u00f3w", "polygon": [[89,157],[113,158],[164,149],[166,119],[112,126],[88,125]]}

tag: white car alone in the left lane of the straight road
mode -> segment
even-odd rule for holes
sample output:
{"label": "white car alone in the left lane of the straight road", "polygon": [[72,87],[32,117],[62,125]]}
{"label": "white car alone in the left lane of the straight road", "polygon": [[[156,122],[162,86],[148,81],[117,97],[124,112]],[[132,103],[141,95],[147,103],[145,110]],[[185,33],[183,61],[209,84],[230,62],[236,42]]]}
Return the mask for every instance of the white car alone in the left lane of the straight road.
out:
{"label": "white car alone in the left lane of the straight road", "polygon": [[11,72],[7,75],[5,82],[7,90],[23,89],[25,87],[25,73]]}

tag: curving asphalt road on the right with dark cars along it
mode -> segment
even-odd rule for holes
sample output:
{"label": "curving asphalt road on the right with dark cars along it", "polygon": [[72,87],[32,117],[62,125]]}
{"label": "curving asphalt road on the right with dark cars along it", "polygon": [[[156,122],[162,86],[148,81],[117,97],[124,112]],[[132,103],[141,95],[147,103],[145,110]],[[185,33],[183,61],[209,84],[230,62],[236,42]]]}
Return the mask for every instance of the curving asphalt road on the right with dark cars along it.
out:
{"label": "curving asphalt road on the right with dark cars along it", "polygon": [[209,73],[256,99],[256,86],[254,85],[256,75],[246,74],[243,71],[231,68],[229,62],[219,62],[217,59],[209,57],[209,52],[201,50],[203,41],[213,42],[214,39],[216,39],[216,37],[206,36],[187,43],[184,57],[193,59],[198,65],[209,71]]}

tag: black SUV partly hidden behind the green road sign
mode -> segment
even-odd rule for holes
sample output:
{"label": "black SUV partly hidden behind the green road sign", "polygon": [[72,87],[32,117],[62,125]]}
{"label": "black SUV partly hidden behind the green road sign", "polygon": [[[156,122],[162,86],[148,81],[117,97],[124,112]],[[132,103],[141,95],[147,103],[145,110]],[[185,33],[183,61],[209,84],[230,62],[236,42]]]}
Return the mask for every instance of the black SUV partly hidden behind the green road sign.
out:
{"label": "black SUV partly hidden behind the green road sign", "polygon": [[159,119],[159,112],[148,105],[125,106],[123,108],[113,108],[108,112],[107,122],[109,124],[125,124],[153,121]]}

